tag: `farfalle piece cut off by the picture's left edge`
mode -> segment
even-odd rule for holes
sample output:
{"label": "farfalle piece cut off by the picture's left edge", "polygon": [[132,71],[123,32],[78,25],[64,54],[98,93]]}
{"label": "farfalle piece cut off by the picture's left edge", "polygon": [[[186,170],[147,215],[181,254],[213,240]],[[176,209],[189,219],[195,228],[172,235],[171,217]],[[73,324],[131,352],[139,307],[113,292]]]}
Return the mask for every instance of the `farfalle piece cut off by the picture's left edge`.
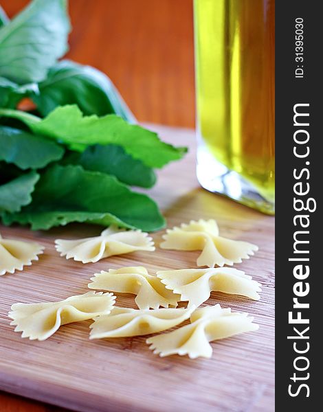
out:
{"label": "farfalle piece cut off by the picture's left edge", "polygon": [[3,239],[0,235],[0,276],[7,272],[22,271],[23,266],[30,266],[32,260],[38,260],[38,255],[44,249],[35,242]]}

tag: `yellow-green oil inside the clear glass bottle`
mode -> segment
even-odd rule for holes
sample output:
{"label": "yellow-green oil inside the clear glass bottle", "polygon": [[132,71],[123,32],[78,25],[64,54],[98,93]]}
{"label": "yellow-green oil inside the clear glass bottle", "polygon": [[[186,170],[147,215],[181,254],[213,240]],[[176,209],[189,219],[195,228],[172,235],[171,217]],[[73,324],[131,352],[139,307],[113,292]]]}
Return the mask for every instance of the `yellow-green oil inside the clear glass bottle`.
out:
{"label": "yellow-green oil inside the clear glass bottle", "polygon": [[273,0],[194,0],[197,122],[215,159],[274,201]]}

